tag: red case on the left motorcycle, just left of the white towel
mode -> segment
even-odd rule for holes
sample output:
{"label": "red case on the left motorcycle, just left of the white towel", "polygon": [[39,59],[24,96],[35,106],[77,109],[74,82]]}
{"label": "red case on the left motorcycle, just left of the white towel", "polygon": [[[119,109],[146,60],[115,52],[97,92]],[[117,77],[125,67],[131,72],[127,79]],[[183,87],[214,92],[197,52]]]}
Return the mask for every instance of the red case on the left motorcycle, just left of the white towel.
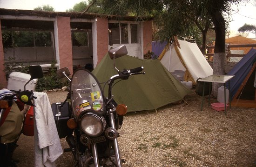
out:
{"label": "red case on the left motorcycle, just left of the white towel", "polygon": [[34,136],[34,107],[33,106],[31,106],[27,111],[22,133],[26,136]]}

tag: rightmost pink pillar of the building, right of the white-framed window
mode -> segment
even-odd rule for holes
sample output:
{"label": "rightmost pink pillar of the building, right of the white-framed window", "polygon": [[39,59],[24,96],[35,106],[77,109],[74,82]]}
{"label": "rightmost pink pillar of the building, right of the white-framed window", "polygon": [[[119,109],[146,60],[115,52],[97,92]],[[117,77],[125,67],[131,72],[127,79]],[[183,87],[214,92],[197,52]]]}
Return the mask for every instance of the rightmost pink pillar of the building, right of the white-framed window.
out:
{"label": "rightmost pink pillar of the building, right of the white-framed window", "polygon": [[143,23],[143,54],[152,51],[152,20]]}

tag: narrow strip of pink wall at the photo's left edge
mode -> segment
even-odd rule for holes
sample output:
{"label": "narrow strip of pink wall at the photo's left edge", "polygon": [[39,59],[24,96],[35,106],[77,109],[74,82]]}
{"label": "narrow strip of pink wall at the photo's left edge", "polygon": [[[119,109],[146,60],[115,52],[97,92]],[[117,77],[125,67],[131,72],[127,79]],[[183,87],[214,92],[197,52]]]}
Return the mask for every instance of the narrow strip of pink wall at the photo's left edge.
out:
{"label": "narrow strip of pink wall at the photo's left edge", "polygon": [[[1,22],[0,22],[0,27],[1,27]],[[0,34],[2,34],[2,30],[0,28]],[[5,67],[4,67],[4,48],[3,48],[3,40],[2,40],[2,35],[0,35],[0,89],[1,88],[6,88],[7,87],[7,80],[5,77]]]}

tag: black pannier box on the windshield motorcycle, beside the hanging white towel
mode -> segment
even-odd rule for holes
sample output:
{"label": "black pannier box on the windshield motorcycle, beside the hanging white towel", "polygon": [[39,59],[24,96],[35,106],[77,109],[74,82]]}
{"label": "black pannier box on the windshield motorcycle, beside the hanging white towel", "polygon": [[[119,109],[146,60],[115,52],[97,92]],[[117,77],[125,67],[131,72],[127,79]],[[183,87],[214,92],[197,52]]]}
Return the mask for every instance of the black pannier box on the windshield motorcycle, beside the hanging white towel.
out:
{"label": "black pannier box on the windshield motorcycle, beside the hanging white towel", "polygon": [[68,112],[69,103],[66,102],[63,107],[61,107],[62,104],[63,102],[52,104],[54,120],[60,139],[73,134],[73,130],[67,127],[67,120],[71,118],[71,115]]}

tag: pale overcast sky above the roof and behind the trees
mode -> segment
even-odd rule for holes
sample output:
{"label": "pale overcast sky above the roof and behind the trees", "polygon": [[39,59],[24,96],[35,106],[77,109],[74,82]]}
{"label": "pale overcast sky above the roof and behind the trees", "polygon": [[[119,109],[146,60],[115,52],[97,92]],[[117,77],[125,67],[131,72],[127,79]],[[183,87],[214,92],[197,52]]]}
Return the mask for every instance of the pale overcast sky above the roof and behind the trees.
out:
{"label": "pale overcast sky above the roof and behind the trees", "polygon": [[[36,7],[50,5],[54,7],[56,12],[65,12],[81,1],[83,0],[0,0],[0,8],[33,10]],[[237,10],[236,7],[234,9]],[[240,4],[239,11],[232,12],[232,21],[229,24],[231,34],[229,37],[238,35],[238,28],[245,23],[256,26],[256,7],[251,3]],[[249,33],[248,37],[256,38],[255,34],[252,33]]]}

